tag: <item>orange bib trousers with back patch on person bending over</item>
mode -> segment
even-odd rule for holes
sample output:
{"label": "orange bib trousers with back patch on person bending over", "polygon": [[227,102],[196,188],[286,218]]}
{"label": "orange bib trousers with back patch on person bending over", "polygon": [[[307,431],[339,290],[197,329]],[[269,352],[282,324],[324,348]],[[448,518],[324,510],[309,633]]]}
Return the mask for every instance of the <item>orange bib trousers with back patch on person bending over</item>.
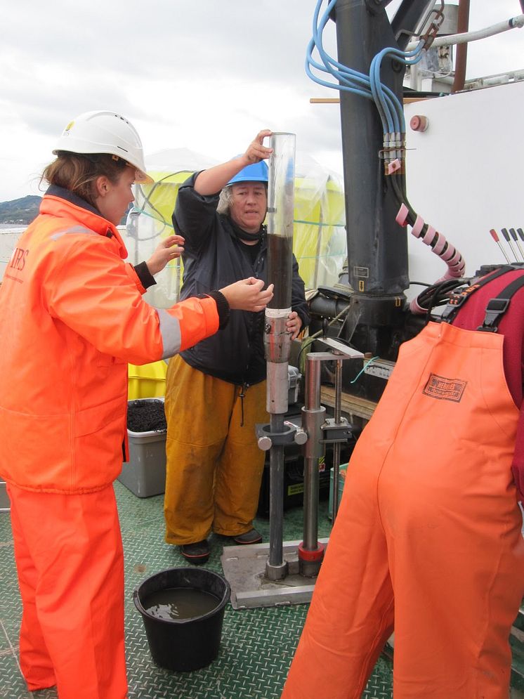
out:
{"label": "orange bib trousers with back patch on person bending over", "polygon": [[504,337],[429,323],[353,452],[282,699],[360,699],[395,630],[395,699],[507,699],[524,595]]}

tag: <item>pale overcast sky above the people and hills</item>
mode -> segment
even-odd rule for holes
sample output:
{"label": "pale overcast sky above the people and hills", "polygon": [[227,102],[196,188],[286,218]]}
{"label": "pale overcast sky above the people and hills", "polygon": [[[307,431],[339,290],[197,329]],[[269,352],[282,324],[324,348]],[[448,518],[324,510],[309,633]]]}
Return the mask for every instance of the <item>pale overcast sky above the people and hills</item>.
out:
{"label": "pale overcast sky above the people and hills", "polygon": [[[456,0],[455,4],[456,4]],[[391,15],[398,6],[388,7]],[[109,109],[146,154],[189,148],[223,161],[258,130],[296,133],[298,150],[341,172],[338,93],[304,71],[317,0],[6,2],[0,40],[0,201],[39,194],[64,126]],[[326,3],[323,4],[323,8]],[[471,0],[470,30],[521,13]],[[336,55],[334,25],[326,46]],[[524,68],[524,30],[470,44],[468,78]]]}

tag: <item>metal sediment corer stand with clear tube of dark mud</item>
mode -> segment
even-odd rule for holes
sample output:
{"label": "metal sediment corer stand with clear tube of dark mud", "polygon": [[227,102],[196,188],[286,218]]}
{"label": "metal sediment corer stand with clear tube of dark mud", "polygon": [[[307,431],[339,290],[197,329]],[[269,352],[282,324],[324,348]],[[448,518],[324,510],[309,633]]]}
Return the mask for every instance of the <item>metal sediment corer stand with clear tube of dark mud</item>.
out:
{"label": "metal sediment corer stand with clear tube of dark mud", "polygon": [[[268,365],[266,407],[269,425],[258,425],[258,445],[270,452],[270,541],[268,544],[227,547],[221,562],[231,585],[233,608],[303,603],[313,594],[327,540],[319,541],[319,460],[327,443],[334,444],[334,481],[338,495],[340,445],[351,437],[351,426],[340,414],[341,364],[362,353],[325,338],[327,351],[309,353],[306,360],[306,405],[302,425],[285,420],[288,409],[288,366],[291,337],[286,321],[291,313],[295,136],[273,133],[268,186],[268,279],[275,285],[266,308],[265,347]],[[339,410],[326,419],[320,405],[320,363],[336,360],[336,396]],[[284,445],[303,445],[304,533],[303,541],[282,542]],[[336,514],[336,499],[334,502]]]}

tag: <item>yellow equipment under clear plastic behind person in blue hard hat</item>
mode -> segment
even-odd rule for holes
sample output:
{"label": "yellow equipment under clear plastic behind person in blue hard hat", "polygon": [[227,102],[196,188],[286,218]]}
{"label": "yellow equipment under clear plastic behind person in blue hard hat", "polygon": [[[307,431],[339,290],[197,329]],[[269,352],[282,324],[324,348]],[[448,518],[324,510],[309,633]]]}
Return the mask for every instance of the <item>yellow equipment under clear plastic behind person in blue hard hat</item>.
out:
{"label": "yellow equipment under clear plastic behind person in blue hard hat", "polygon": [[[173,233],[171,215],[180,185],[195,171],[216,164],[185,149],[157,153],[148,163],[153,164],[148,174],[154,183],[136,185],[136,201],[124,233],[128,260],[133,264],[147,260],[162,238]],[[339,280],[347,254],[343,187],[336,175],[306,155],[297,153],[295,171],[293,251],[300,274],[306,289],[333,286]],[[148,303],[157,308],[176,303],[182,274],[180,259],[169,263],[156,275],[157,284],[145,294]],[[164,368],[161,364],[165,366],[165,362],[155,362],[129,367],[130,399],[163,395],[142,395],[143,391],[163,391],[164,384],[155,373]]]}

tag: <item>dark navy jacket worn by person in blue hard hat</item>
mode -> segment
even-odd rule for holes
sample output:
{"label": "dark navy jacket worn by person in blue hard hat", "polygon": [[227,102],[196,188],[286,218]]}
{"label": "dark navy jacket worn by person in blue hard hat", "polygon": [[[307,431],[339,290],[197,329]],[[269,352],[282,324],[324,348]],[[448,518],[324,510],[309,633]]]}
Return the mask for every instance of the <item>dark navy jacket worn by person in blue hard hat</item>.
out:
{"label": "dark navy jacket worn by person in blue hard hat", "polygon": [[[235,235],[229,216],[217,214],[218,194],[204,197],[193,185],[192,175],[178,190],[173,227],[185,238],[181,299],[208,294],[240,279],[256,277],[268,283],[266,228],[259,254],[251,262],[248,246]],[[292,310],[309,323],[308,304],[299,265],[293,256]],[[181,353],[183,359],[204,374],[238,386],[258,384],[266,378],[263,330],[265,314],[231,311],[228,324],[212,337]]]}

